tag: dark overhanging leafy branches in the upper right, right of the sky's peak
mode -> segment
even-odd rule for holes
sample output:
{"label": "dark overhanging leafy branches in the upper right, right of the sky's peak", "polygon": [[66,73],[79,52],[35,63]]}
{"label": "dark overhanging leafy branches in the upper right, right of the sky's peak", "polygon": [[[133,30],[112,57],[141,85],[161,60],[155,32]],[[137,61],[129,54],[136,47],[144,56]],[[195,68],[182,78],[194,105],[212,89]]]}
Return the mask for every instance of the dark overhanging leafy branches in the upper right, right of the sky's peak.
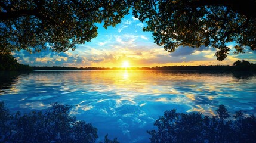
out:
{"label": "dark overhanging leafy branches in the upper right, right of the sky's peak", "polygon": [[230,52],[226,43],[235,42],[235,54],[248,46],[256,50],[256,1],[253,0],[152,0],[136,1],[133,14],[146,21],[144,31],[165,51],[179,46],[217,48],[217,60]]}

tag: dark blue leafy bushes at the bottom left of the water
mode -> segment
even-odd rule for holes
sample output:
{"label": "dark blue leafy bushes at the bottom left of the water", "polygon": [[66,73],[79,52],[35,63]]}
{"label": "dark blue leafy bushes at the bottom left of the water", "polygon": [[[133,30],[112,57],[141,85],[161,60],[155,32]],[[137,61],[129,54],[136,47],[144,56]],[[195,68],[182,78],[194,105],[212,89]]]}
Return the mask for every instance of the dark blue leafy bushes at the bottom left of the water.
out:
{"label": "dark blue leafy bushes at the bottom left of the water", "polygon": [[[69,115],[70,108],[70,105],[55,103],[44,112],[21,115],[18,111],[10,115],[4,102],[0,102],[0,142],[95,142],[97,128],[91,123],[76,121]],[[112,142],[118,141],[115,138]]]}

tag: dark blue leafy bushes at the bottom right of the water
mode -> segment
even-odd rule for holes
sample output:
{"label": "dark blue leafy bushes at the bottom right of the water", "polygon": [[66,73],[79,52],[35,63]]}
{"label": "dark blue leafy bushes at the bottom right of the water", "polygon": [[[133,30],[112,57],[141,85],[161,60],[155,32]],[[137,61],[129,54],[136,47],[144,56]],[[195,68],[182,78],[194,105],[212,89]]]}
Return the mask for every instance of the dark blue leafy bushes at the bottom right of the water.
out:
{"label": "dark blue leafy bushes at the bottom right of the water", "polygon": [[202,117],[201,113],[165,111],[154,123],[158,130],[147,131],[151,142],[255,142],[256,117],[245,117],[237,111],[230,117],[224,105],[216,110],[218,116]]}

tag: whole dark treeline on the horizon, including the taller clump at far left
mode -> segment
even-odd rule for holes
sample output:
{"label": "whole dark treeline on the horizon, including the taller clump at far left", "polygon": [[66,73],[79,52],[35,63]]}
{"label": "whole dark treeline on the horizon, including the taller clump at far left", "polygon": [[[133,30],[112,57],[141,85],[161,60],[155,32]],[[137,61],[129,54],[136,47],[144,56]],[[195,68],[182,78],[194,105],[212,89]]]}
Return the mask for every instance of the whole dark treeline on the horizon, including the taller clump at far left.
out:
{"label": "whole dark treeline on the horizon, including the taller clump at far left", "polygon": [[0,53],[0,71],[30,71],[30,70],[190,70],[190,71],[251,71],[256,72],[256,64],[249,63],[249,61],[238,60],[229,65],[212,65],[212,66],[163,66],[163,67],[38,67],[24,65],[18,63],[18,61],[10,53]]}

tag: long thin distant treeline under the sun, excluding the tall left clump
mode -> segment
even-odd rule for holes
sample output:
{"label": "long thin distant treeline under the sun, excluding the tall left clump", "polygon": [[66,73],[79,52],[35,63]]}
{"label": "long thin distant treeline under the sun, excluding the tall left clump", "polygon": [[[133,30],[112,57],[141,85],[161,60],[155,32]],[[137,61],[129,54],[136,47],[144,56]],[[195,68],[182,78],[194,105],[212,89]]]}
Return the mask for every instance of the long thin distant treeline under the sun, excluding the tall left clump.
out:
{"label": "long thin distant treeline under the sun, excluding the tall left clump", "polygon": [[163,66],[163,67],[32,67],[33,70],[196,70],[196,71],[256,71],[256,64],[249,63],[245,60],[238,60],[229,65],[212,65],[212,66]]}

